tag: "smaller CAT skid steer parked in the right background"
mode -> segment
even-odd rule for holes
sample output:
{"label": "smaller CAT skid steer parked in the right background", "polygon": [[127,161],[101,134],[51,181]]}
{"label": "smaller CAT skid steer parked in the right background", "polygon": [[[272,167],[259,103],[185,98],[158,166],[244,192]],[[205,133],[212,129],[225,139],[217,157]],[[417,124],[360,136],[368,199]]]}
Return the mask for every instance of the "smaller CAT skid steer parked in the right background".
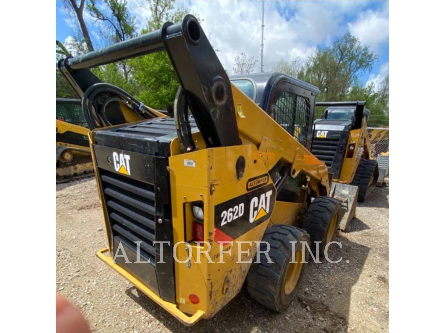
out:
{"label": "smaller CAT skid steer parked in the right background", "polygon": [[358,201],[376,186],[379,169],[370,159],[367,121],[370,111],[365,101],[318,102],[327,107],[324,118],[314,121],[311,152],[333,173],[332,190],[343,191],[343,184],[358,187]]}

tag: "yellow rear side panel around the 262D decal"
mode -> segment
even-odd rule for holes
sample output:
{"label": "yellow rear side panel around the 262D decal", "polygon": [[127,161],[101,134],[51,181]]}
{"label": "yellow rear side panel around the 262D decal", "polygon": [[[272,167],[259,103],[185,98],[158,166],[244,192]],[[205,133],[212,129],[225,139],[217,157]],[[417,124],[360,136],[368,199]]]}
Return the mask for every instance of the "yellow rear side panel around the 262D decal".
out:
{"label": "yellow rear side panel around the 262D decal", "polygon": [[[236,160],[239,156],[246,159],[246,167],[243,177],[236,176]],[[215,206],[224,202],[232,202],[234,198],[245,195],[246,183],[250,178],[258,174],[266,174],[267,170],[262,163],[255,163],[260,159],[259,152],[253,145],[242,145],[234,147],[220,147],[194,151],[170,157],[170,182],[171,200],[173,207],[173,231],[174,243],[189,242],[191,249],[190,262],[186,262],[188,250],[186,244],[180,244],[176,255],[183,263],[175,262],[176,297],[181,311],[194,314],[198,310],[205,312],[205,318],[213,317],[219,309],[233,298],[240,290],[245,280],[250,264],[236,264],[238,261],[239,241],[250,243],[242,244],[242,251],[248,252],[241,256],[242,261],[249,261],[256,253],[256,244],[260,241],[273,213],[275,189],[268,179],[264,186],[273,191],[266,202],[265,220],[248,230],[246,233],[233,238],[235,242],[222,245],[224,251],[231,254],[222,254],[221,261],[220,244],[214,240]],[[190,166],[187,161],[194,161]],[[254,198],[254,197],[253,197]],[[266,198],[264,196],[264,198]],[[266,198],[267,199],[267,198]],[[239,203],[242,201],[240,199]],[[207,246],[200,246],[192,241],[189,231],[193,228],[193,215],[191,213],[191,202],[203,202],[204,242],[211,244],[208,255],[214,263],[210,263],[205,254],[198,256],[198,250],[207,250]],[[238,203],[234,202],[232,206]],[[230,206],[230,203],[228,203]],[[231,207],[230,207],[231,208]],[[254,214],[244,208],[243,215]],[[222,213],[223,214],[223,213]],[[186,220],[184,221],[184,216]],[[234,223],[235,220],[228,223]],[[223,222],[222,222],[223,223]],[[185,225],[185,230],[183,226]],[[201,263],[197,263],[200,259]],[[255,259],[254,259],[255,260]],[[199,297],[198,304],[192,304],[189,295],[195,294]]]}

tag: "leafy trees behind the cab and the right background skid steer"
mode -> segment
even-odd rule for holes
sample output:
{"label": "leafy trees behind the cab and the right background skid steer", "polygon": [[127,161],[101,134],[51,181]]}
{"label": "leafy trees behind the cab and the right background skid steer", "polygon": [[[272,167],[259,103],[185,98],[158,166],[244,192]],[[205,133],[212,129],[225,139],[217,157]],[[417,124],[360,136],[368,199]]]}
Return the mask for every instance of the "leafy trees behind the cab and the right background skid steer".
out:
{"label": "leafy trees behind the cab and the right background skid steer", "polygon": [[[389,122],[389,77],[377,87],[374,83],[362,86],[362,75],[372,71],[377,54],[349,33],[335,40],[332,46],[317,47],[305,62],[297,57],[291,61],[281,59],[274,66],[297,79],[320,89],[317,101],[365,100],[371,111],[369,124],[386,125]],[[325,107],[317,107],[315,118],[320,118]]]}

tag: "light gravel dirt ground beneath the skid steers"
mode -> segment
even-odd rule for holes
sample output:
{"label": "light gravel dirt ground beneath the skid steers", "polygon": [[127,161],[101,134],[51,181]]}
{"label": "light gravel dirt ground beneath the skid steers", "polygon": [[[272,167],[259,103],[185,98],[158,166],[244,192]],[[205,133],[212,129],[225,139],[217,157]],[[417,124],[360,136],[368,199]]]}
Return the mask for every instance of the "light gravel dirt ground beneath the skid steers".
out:
{"label": "light gravel dirt ground beneath the skid steers", "polygon": [[337,236],[342,249],[331,249],[331,257],[342,261],[310,262],[284,313],[241,291],[212,320],[187,328],[95,257],[106,239],[94,178],[59,184],[56,290],[81,309],[95,332],[388,331],[389,188],[358,203],[356,216]]}

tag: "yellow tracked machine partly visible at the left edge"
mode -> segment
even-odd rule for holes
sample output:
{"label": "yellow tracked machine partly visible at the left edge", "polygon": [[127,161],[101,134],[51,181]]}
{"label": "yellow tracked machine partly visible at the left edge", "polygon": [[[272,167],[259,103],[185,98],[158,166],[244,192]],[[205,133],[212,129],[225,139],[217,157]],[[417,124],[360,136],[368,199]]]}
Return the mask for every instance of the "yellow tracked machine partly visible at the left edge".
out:
{"label": "yellow tracked machine partly visible at the left edge", "polygon": [[56,99],[56,183],[91,176],[94,168],[80,99]]}

